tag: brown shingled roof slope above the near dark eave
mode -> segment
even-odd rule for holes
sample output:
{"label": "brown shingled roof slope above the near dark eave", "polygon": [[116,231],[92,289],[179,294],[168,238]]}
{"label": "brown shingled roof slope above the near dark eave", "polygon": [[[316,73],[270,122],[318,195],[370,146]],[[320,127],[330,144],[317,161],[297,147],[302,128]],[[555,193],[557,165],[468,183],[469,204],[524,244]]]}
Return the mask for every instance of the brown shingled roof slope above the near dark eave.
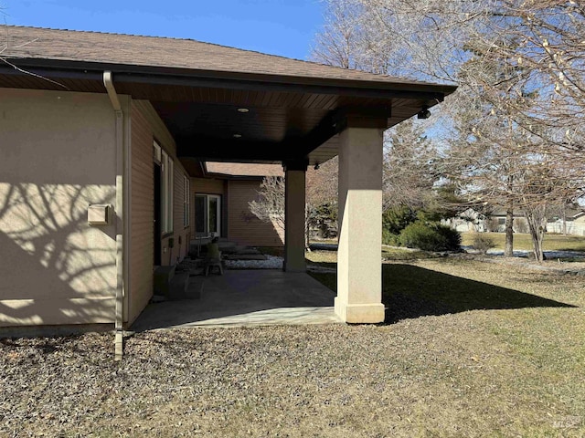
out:
{"label": "brown shingled roof slope above the near dark eave", "polygon": [[[3,57],[50,59],[112,65],[161,67],[199,72],[260,74],[290,78],[324,78],[379,85],[396,84],[401,89],[424,89],[430,84],[392,78],[358,70],[325,66],[314,62],[265,55],[250,50],[218,46],[192,39],[132,36],[25,26],[0,26],[5,35]],[[4,46],[4,47],[3,47]],[[451,88],[452,86],[446,86]]]}

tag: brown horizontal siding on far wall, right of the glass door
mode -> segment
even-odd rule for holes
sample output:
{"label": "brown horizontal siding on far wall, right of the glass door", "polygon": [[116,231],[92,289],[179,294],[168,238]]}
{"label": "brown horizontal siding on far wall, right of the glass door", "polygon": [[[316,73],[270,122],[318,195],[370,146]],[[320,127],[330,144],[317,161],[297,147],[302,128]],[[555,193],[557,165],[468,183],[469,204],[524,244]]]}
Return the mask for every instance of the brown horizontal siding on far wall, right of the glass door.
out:
{"label": "brown horizontal siding on far wall, right of the glass door", "polygon": [[259,181],[229,182],[229,239],[241,245],[282,246],[284,231],[250,214],[248,203],[257,198]]}

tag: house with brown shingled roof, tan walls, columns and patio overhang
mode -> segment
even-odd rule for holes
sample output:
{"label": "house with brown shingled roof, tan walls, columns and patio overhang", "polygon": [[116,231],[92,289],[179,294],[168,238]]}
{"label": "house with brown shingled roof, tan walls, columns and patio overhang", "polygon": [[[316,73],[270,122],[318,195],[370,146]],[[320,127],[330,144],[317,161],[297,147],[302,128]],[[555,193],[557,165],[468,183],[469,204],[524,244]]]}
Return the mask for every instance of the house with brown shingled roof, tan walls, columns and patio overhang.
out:
{"label": "house with brown shingled roof, tan walls, columns and patio overhang", "polygon": [[282,166],[284,270],[303,273],[305,172],[335,155],[335,311],[383,320],[383,130],[454,87],[193,40],[0,27],[0,327],[114,324],[121,345],[154,266],[186,256],[198,207],[214,233],[258,242],[240,220],[258,178],[206,162]]}

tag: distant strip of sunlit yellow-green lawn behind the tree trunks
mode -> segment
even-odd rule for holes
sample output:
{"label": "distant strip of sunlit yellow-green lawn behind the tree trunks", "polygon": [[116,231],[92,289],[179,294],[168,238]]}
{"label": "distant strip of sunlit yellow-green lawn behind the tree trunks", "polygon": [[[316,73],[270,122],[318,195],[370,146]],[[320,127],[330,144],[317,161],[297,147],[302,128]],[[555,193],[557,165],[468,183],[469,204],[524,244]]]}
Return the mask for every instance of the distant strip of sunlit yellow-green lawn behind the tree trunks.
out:
{"label": "distant strip of sunlit yellow-green lawn behind the tree trunks", "polygon": [[[462,233],[462,245],[473,245],[475,233]],[[505,233],[481,233],[490,237],[495,248],[504,249]],[[545,251],[585,251],[585,236],[581,235],[549,235],[546,234],[543,240]],[[532,250],[530,235],[515,233],[514,249]]]}

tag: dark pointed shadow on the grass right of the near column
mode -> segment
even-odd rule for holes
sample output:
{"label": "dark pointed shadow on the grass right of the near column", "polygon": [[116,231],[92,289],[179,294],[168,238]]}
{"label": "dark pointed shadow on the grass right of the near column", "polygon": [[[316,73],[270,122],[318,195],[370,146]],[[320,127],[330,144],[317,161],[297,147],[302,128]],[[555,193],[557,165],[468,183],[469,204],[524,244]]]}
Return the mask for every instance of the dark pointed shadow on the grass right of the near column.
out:
{"label": "dark pointed shadow on the grass right of the near column", "polygon": [[386,323],[468,310],[575,308],[506,287],[450,276],[420,266],[382,266],[382,302]]}

